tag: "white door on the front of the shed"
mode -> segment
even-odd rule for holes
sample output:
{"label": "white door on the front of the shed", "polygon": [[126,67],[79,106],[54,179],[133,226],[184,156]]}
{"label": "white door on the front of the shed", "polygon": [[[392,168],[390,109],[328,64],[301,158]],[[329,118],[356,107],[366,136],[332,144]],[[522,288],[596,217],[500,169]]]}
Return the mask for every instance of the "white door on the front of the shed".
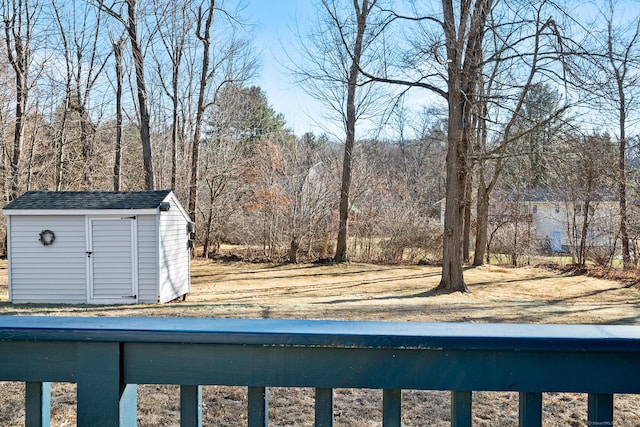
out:
{"label": "white door on the front of the shed", "polygon": [[137,301],[135,217],[89,219],[89,302]]}

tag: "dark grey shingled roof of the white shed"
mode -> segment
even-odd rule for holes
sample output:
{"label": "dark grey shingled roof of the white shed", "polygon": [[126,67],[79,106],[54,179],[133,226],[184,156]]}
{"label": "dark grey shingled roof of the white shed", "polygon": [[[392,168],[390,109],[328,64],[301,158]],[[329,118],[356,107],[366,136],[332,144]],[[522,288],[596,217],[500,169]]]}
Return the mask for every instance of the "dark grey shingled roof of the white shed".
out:
{"label": "dark grey shingled roof of the white shed", "polygon": [[4,207],[34,210],[155,209],[171,193],[158,191],[27,191]]}

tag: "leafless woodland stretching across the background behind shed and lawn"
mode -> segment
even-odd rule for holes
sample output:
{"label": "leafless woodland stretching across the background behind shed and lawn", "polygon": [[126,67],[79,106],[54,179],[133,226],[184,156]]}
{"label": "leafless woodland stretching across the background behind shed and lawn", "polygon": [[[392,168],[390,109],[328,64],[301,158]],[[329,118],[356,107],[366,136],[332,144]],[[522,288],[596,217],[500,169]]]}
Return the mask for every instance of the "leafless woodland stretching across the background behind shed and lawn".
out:
{"label": "leafless woodland stretching across the background behind shed and lawn", "polygon": [[441,288],[465,290],[463,264],[540,248],[517,209],[495,215],[498,194],[561,195],[578,263],[606,194],[605,258],[638,264],[640,19],[624,4],[319,0],[290,69],[337,136],[295,135],[270,106],[238,4],[2,2],[4,201],[171,188],[204,255],[442,262]]}

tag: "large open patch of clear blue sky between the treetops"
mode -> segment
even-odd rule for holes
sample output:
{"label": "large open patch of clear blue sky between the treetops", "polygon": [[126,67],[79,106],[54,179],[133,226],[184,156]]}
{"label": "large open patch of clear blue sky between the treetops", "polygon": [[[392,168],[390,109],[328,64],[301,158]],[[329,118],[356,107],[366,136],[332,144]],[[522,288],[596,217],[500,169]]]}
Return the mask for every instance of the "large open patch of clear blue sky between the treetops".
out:
{"label": "large open patch of clear blue sky between the treetops", "polygon": [[314,2],[309,0],[248,0],[243,12],[255,23],[255,44],[262,56],[262,70],[255,83],[265,91],[274,110],[284,114],[296,135],[324,131],[313,119],[322,114],[322,104],[296,87],[286,70],[287,54],[295,54],[296,26],[304,28],[305,22],[313,20],[314,10]]}

